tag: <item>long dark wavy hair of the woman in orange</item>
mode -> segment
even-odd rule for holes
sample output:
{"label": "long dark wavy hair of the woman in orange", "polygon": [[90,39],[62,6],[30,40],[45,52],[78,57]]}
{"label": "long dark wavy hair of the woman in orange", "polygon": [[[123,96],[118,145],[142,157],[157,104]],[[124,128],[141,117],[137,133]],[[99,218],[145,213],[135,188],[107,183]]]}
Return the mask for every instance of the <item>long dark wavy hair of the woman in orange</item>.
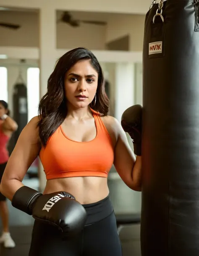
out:
{"label": "long dark wavy hair of the woman in orange", "polygon": [[65,98],[64,89],[65,73],[80,60],[89,60],[98,73],[96,103],[94,104],[94,99],[90,107],[102,116],[106,116],[109,111],[109,100],[105,93],[105,80],[97,58],[86,48],[70,50],[56,63],[55,69],[47,81],[47,92],[39,103],[37,127],[39,127],[39,137],[44,147],[49,137],[63,123],[67,115],[67,99]]}

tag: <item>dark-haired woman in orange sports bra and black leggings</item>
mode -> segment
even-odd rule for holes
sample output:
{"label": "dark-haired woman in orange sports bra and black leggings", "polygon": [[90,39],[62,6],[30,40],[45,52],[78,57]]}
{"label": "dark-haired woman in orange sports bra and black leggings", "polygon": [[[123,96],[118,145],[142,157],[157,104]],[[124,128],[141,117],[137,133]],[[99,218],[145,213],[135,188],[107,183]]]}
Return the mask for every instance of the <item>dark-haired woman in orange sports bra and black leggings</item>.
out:
{"label": "dark-haired woman in orange sports bra and black leggings", "polygon": [[[21,132],[0,190],[12,203],[14,201],[13,205],[18,204],[16,208],[23,204],[22,210],[35,200],[36,203],[31,203],[25,210],[32,214],[38,193],[33,193],[30,200],[22,203],[22,197],[31,193],[27,188],[23,190],[22,180],[39,155],[47,178],[43,196],[53,195],[46,205],[42,204],[42,214],[50,212],[52,201],[55,202],[53,193],[63,191],[59,196],[70,193],[85,208],[87,220],[78,237],[62,239],[56,227],[37,218],[29,256],[122,255],[115,214],[108,196],[107,175],[114,164],[126,185],[140,191],[141,157],[137,157],[135,164],[125,132],[107,113],[104,77],[96,57],[84,48],[65,53],[48,79],[47,93],[39,104],[39,116],[31,119]],[[21,193],[21,189],[27,193]],[[65,214],[63,209],[54,212]],[[50,218],[52,220],[52,216]]]}

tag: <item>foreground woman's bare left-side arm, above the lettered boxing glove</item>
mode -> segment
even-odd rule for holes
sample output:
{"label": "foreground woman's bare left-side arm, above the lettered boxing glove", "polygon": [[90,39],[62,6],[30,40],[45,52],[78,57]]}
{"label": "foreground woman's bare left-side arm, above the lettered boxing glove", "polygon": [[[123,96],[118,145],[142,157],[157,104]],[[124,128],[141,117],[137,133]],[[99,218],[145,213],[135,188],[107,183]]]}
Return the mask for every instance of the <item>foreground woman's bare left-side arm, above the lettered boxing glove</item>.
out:
{"label": "foreground woman's bare left-side arm, above the lettered boxing glove", "polygon": [[10,201],[15,192],[24,186],[22,180],[39,154],[39,132],[36,127],[38,121],[39,117],[36,116],[24,127],[6,165],[0,191]]}

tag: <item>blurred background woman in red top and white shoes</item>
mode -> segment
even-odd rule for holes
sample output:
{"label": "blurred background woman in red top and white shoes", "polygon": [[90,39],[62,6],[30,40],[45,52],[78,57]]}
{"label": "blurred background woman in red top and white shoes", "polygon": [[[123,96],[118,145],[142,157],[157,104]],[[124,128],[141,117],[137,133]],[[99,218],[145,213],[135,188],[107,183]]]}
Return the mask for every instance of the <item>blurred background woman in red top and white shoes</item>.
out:
{"label": "blurred background woman in red top and white shoes", "polygon": [[[16,129],[16,122],[9,116],[8,104],[4,100],[0,100],[0,182],[9,158],[7,143]],[[6,248],[13,248],[15,247],[15,243],[9,231],[8,206],[6,198],[2,193],[0,193],[0,213],[3,225],[3,234],[0,237],[0,243],[4,243]]]}

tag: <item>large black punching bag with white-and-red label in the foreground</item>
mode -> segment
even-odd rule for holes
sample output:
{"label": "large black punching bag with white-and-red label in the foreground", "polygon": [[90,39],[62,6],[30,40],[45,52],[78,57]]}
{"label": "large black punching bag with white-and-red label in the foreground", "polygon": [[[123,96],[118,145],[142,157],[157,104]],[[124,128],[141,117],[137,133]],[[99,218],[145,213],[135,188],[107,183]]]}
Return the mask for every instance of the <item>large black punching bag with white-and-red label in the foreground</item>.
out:
{"label": "large black punching bag with white-and-red label in the foreground", "polygon": [[199,3],[158,8],[144,27],[141,253],[199,256]]}

